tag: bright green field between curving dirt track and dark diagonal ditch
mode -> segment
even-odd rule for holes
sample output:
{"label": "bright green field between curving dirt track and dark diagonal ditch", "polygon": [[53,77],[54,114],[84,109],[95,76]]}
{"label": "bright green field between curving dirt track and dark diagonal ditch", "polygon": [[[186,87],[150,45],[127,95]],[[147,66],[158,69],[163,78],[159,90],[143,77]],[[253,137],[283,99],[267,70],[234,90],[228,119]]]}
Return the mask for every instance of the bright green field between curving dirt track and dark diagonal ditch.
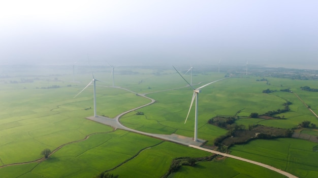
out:
{"label": "bright green field between curving dirt track and dark diagonal ditch", "polygon": [[[136,142],[138,144],[135,144]],[[139,150],[160,142],[123,130],[99,133],[90,136],[86,141],[61,148],[48,160],[39,163],[30,173],[44,177],[78,177],[85,172],[92,177],[133,157]],[[21,165],[17,167],[19,166]],[[1,169],[4,174],[7,171],[9,170],[6,168]],[[27,172],[21,172],[21,177],[27,177],[24,173]]]}

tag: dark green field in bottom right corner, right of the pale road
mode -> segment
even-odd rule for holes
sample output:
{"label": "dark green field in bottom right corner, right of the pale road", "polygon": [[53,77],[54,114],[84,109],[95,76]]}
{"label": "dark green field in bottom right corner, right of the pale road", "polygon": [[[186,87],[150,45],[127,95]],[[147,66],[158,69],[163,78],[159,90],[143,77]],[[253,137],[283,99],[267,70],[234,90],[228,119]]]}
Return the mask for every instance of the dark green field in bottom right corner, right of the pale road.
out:
{"label": "dark green field in bottom right corner, right of the pale road", "polygon": [[316,177],[317,143],[299,139],[255,140],[230,148],[231,154],[272,165],[298,177]]}

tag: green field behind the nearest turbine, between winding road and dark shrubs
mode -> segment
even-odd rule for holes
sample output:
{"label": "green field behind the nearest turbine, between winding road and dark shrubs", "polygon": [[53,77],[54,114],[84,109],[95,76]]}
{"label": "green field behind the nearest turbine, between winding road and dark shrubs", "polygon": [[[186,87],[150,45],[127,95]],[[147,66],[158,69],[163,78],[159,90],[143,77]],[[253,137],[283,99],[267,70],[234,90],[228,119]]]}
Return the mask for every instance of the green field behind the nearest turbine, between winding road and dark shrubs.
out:
{"label": "green field behind the nearest turbine, between winding road and dark shrubs", "polygon": [[[247,87],[250,83],[253,84],[253,87]],[[233,85],[236,87],[232,87]],[[272,88],[272,86],[268,86],[263,82],[257,82],[256,78],[253,77],[230,78],[203,88],[199,102],[199,137],[213,141],[215,137],[219,136],[218,134],[207,133],[212,135],[212,137],[208,137],[202,129],[211,117],[216,115],[235,115],[240,110],[239,116],[249,116],[252,112],[262,114],[269,110],[283,109],[284,106],[282,104],[286,100],[293,102],[293,105],[291,105],[292,111],[280,114],[280,116],[284,115],[288,119],[239,119],[237,123],[246,126],[249,124],[263,124],[280,128],[292,128],[303,119],[310,120],[313,123],[317,122],[312,113],[303,106],[294,94],[286,92],[262,93],[267,87],[271,87],[273,90],[279,90],[280,88],[280,86]],[[190,88],[155,93],[148,96],[154,98],[157,102],[138,110],[143,112],[144,116],[129,115],[122,118],[121,121],[124,125],[141,131],[149,131],[149,128],[152,128],[151,132],[165,134],[171,134],[177,129],[176,133],[185,134],[188,137],[193,136],[194,108],[189,114],[187,123],[180,124],[184,121],[188,111],[190,97],[192,96]]]}

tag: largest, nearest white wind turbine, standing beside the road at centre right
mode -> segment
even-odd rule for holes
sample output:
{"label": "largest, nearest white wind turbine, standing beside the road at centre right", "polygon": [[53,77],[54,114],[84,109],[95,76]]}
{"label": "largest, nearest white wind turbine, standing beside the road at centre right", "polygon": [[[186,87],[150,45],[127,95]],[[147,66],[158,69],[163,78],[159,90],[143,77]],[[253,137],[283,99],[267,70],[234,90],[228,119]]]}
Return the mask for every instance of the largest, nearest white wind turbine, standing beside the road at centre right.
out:
{"label": "largest, nearest white wind turbine, standing beside the road at centre right", "polygon": [[[172,67],[178,72],[178,70],[177,70],[174,66],[172,66]],[[222,79],[219,79],[219,80],[215,80],[215,81],[212,81],[212,82],[210,82],[210,83],[207,83],[207,84],[205,84],[205,85],[203,85],[203,86],[200,86],[200,87],[198,87],[198,88],[194,88],[188,81],[186,81],[186,79],[185,79],[179,72],[178,72],[178,74],[179,74],[179,75],[183,78],[183,80],[184,80],[185,82],[187,82],[187,84],[189,84],[189,85],[192,87],[192,89],[193,89],[192,101],[191,101],[191,104],[190,104],[190,108],[189,108],[188,114],[187,114],[187,116],[186,116],[186,118],[185,118],[184,124],[185,124],[185,122],[186,122],[186,120],[187,120],[187,118],[188,118],[188,116],[189,116],[189,113],[190,113],[190,111],[191,111],[193,102],[194,102],[194,100],[196,99],[196,110],[195,110],[195,137],[194,137],[194,141],[197,142],[197,141],[198,141],[198,104],[199,104],[199,93],[201,93],[201,90],[200,90],[200,89],[203,88],[203,87],[205,87],[205,86],[207,86],[207,85],[209,85],[209,84],[212,84],[212,83],[217,82],[217,81],[220,81],[220,80],[227,79],[227,78],[229,78],[229,77],[227,77],[227,78],[222,78]]]}

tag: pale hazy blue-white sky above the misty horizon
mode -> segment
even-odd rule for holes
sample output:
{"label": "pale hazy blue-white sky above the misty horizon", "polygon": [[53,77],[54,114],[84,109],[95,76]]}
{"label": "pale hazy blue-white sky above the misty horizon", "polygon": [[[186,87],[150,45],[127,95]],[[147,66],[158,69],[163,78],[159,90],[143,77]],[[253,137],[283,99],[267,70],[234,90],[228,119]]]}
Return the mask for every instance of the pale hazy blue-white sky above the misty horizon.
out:
{"label": "pale hazy blue-white sky above the misty horizon", "polygon": [[[0,3],[0,62],[317,66],[318,1]],[[106,63],[106,62],[105,62]],[[106,65],[106,64],[105,64]]]}

